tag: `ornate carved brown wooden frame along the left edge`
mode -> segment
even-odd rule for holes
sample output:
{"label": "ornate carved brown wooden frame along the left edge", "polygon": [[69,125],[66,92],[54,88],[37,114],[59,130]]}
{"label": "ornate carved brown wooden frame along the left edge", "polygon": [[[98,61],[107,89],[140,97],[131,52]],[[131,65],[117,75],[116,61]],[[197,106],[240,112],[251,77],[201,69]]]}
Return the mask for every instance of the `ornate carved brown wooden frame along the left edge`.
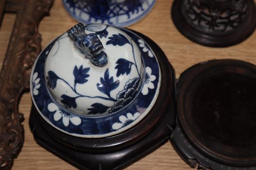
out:
{"label": "ornate carved brown wooden frame along the left edge", "polygon": [[12,35],[0,71],[0,169],[10,169],[24,141],[19,113],[22,94],[41,50],[38,25],[49,14],[54,0],[0,0],[0,24],[4,13],[16,13]]}

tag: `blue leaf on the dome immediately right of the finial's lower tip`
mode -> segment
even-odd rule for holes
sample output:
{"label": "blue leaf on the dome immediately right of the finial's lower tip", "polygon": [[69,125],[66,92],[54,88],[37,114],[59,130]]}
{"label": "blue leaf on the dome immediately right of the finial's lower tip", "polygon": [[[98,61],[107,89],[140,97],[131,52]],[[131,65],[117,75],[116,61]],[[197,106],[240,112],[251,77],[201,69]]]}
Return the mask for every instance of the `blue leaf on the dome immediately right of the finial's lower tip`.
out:
{"label": "blue leaf on the dome immediately right of the finial's lower tip", "polygon": [[115,69],[117,69],[116,76],[120,76],[126,73],[126,75],[130,74],[131,67],[134,63],[129,62],[126,59],[120,58],[116,62],[117,66],[115,66]]}

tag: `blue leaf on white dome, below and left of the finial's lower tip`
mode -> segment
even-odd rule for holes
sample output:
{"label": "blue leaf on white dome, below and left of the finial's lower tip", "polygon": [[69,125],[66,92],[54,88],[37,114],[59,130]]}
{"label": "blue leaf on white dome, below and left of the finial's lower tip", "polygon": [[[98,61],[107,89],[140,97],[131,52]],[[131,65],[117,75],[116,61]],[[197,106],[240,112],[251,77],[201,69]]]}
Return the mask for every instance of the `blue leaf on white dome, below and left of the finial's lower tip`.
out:
{"label": "blue leaf on white dome, below and left of the finial's lower tip", "polygon": [[77,68],[77,66],[75,66],[73,70],[74,82],[79,84],[87,82],[88,80],[86,78],[89,77],[89,75],[87,74],[89,69],[89,67],[83,69],[82,65],[79,67],[79,69]]}

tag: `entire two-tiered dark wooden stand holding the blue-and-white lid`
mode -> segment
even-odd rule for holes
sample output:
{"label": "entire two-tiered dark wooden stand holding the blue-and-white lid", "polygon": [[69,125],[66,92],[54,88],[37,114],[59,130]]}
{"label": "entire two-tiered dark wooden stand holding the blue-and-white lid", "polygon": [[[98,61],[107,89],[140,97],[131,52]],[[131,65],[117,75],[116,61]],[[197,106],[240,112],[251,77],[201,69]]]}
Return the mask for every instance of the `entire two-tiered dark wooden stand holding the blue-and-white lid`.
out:
{"label": "entire two-tiered dark wooden stand holding the blue-and-white lid", "polygon": [[159,97],[148,115],[125,132],[100,139],[67,135],[43,120],[32,106],[29,118],[34,139],[42,147],[83,170],[116,170],[134,163],[168,141],[175,126],[175,71],[163,51],[138,33],[158,57],[162,84]]}

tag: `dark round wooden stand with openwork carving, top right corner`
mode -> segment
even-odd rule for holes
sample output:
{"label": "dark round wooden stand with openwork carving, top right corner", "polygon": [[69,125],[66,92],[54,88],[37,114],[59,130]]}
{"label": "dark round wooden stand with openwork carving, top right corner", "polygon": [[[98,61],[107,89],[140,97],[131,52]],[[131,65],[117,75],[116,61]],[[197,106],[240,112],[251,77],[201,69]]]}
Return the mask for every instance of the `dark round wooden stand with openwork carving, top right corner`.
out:
{"label": "dark round wooden stand with openwork carving, top right corner", "polygon": [[[171,15],[175,26],[185,37],[209,47],[241,43],[256,28],[253,0],[225,1],[225,4],[218,0],[175,0]],[[236,15],[239,17],[233,20]]]}

